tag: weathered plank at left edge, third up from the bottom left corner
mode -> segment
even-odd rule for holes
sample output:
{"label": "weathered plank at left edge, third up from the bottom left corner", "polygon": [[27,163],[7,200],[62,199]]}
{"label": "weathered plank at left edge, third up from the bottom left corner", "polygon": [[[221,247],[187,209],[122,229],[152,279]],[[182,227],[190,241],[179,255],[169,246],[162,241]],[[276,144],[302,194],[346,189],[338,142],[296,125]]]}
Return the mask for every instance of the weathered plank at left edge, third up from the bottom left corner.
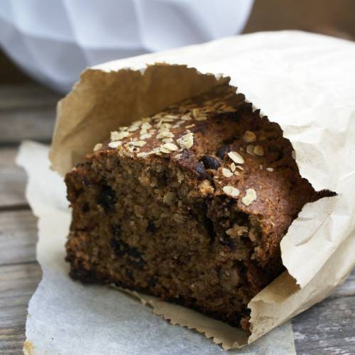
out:
{"label": "weathered plank at left edge, third up from the bottom left corner", "polygon": [[26,173],[15,163],[17,148],[0,148],[0,209],[26,205]]}

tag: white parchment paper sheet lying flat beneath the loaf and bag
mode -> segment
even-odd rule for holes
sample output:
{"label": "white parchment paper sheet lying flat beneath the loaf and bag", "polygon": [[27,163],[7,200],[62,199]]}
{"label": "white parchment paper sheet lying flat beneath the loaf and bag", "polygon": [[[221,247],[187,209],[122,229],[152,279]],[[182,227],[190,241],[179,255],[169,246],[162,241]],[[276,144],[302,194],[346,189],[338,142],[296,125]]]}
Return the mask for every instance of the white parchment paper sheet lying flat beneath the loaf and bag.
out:
{"label": "white parchment paper sheet lying flat beneath the loaf and bag", "polygon": [[18,163],[28,174],[26,195],[38,216],[37,257],[43,269],[28,306],[26,354],[295,354],[290,322],[247,349],[223,351],[119,290],[71,280],[64,261],[70,209],[62,177],[49,168],[48,147],[38,143],[23,143]]}

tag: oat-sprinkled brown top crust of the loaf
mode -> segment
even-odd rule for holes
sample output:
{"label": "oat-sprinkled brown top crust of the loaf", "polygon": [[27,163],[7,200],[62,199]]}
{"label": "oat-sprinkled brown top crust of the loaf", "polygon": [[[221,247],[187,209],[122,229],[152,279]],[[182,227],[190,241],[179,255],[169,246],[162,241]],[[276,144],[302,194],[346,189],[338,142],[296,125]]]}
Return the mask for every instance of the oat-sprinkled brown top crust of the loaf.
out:
{"label": "oat-sprinkled brown top crust of the loaf", "polygon": [[214,197],[227,195],[258,219],[263,240],[256,259],[261,265],[279,256],[288,226],[306,202],[319,198],[301,178],[280,126],[253,112],[231,88],[217,88],[121,127],[111,132],[111,141],[97,144],[89,158],[103,152],[149,164],[164,160],[196,180],[211,182]]}

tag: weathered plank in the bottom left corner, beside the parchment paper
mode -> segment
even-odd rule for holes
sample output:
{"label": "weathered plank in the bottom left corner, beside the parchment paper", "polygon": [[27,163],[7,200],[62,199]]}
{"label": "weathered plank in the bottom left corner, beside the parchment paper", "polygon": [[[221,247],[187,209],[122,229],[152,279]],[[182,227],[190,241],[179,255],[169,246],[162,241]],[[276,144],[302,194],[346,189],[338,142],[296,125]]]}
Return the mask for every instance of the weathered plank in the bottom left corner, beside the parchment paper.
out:
{"label": "weathered plank in the bottom left corner, beside the parchment paper", "polygon": [[41,275],[35,262],[0,267],[0,354],[22,354],[28,301]]}

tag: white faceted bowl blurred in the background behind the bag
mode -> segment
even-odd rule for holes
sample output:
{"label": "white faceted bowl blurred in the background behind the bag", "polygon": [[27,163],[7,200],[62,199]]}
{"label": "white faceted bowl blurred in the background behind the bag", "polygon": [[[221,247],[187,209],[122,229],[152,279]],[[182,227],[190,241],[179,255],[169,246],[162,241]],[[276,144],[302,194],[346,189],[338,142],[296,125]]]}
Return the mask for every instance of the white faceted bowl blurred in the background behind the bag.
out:
{"label": "white faceted bowl blurred in the background behind the bag", "polygon": [[240,33],[253,0],[1,0],[0,45],[61,92],[88,66]]}

